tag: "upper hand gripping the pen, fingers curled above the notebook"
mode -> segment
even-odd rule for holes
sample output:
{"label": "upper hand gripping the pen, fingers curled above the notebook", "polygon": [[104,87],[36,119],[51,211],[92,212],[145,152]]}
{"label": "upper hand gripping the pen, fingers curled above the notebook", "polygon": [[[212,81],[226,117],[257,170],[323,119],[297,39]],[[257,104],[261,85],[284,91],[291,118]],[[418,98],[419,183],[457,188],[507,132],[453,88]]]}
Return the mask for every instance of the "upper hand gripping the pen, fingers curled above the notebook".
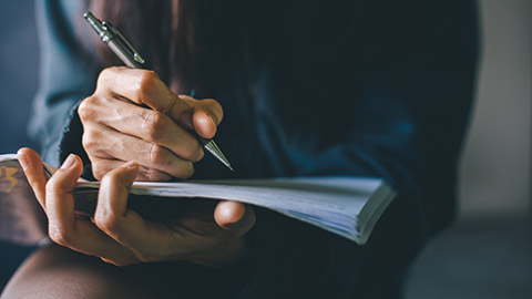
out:
{"label": "upper hand gripping the pen, fingers curled above the notebook", "polygon": [[216,101],[177,96],[154,72],[124,66],[100,73],[95,92],[81,102],[78,114],[99,181],[126,161],[139,163],[136,181],[192,176],[193,163],[204,152],[191,131],[212,138],[223,117]]}

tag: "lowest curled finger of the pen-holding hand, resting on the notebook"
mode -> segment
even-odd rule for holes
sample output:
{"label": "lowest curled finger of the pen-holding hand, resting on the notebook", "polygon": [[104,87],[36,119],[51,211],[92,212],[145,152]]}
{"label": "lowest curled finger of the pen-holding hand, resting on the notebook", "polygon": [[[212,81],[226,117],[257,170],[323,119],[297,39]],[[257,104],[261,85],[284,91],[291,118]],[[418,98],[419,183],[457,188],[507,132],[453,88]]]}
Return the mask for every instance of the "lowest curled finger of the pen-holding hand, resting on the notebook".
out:
{"label": "lowest curled finger of the pen-holding hand, resting on the notebook", "polygon": [[[143,166],[140,174],[150,181],[161,181],[161,173],[167,178],[187,178],[194,173],[194,165],[191,161],[183,159],[168,148],[145,142],[143,140],[123,135],[110,128],[94,131],[90,134],[95,144],[85,142],[84,147],[91,161],[98,179],[115,168],[108,165],[108,159],[135,161]],[[103,161],[102,161],[103,159]],[[146,172],[151,169],[150,172]],[[96,175],[98,174],[98,175]],[[153,177],[152,177],[153,176]]]}

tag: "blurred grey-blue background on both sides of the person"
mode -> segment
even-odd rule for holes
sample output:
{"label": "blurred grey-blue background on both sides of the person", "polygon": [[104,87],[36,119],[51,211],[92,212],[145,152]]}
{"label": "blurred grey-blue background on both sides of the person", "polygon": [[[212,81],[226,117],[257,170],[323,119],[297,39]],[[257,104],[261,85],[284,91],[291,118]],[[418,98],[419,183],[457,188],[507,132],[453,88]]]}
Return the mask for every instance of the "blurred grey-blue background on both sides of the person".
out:
{"label": "blurred grey-blue background on both sides of the person", "polygon": [[[38,86],[37,29],[33,1],[0,3],[0,153],[14,153],[33,146],[25,125]],[[408,299],[532,298],[532,1],[479,4],[482,53],[460,214],[418,257]],[[31,249],[0,243],[0,289]]]}

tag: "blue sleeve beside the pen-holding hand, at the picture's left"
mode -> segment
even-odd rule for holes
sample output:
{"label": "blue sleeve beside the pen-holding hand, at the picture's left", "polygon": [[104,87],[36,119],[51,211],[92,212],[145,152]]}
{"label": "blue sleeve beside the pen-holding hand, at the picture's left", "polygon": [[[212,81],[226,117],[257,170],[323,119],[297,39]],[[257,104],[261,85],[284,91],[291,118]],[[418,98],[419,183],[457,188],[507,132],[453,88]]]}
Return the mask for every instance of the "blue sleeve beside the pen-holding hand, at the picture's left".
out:
{"label": "blue sleeve beside the pen-holding hand, at the picture's left", "polygon": [[44,162],[55,166],[69,153],[84,156],[75,109],[93,92],[98,74],[93,54],[79,39],[85,33],[80,2],[35,1],[40,82],[28,131]]}

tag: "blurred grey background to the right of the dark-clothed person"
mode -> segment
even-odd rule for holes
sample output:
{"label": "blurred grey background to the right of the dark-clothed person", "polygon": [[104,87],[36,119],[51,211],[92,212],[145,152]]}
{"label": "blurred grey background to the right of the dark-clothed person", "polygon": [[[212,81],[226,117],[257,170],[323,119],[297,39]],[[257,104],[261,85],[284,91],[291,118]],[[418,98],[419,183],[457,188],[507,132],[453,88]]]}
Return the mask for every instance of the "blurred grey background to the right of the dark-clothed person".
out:
{"label": "blurred grey background to the right of the dark-clothed person", "polygon": [[418,298],[532,298],[532,1],[480,0],[475,107],[456,224],[419,256]]}

